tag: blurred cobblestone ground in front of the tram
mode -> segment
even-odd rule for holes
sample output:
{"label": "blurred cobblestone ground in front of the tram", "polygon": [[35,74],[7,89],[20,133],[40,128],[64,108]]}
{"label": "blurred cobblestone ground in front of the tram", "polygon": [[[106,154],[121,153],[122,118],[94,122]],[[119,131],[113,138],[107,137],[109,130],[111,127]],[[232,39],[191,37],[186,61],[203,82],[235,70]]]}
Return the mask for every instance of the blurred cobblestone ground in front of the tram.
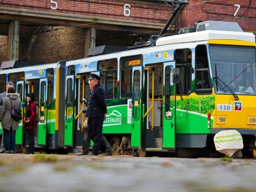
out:
{"label": "blurred cobblestone ground in front of the tram", "polygon": [[0,192],[254,192],[256,160],[0,154]]}

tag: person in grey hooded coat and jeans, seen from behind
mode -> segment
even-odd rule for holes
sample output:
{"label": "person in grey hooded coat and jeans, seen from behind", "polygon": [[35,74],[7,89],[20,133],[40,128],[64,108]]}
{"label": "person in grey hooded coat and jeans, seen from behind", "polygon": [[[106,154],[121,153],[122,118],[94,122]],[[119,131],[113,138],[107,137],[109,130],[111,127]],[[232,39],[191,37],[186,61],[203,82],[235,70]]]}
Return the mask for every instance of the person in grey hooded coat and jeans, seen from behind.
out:
{"label": "person in grey hooded coat and jeans, seen from behind", "polygon": [[[12,104],[11,101],[12,100]],[[21,100],[19,94],[15,93],[14,88],[8,88],[6,98],[1,108],[0,121],[2,121],[2,128],[4,130],[4,153],[15,154],[16,130],[19,122],[12,118],[12,106],[21,110]]]}

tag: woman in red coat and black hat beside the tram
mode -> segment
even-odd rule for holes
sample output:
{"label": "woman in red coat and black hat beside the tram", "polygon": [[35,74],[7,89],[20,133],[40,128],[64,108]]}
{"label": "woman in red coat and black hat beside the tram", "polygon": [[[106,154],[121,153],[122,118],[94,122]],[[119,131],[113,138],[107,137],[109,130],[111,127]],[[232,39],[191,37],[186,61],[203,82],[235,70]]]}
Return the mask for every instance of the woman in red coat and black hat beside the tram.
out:
{"label": "woman in red coat and black hat beside the tram", "polygon": [[28,106],[26,108],[26,116],[24,121],[24,129],[26,129],[28,137],[28,151],[25,154],[34,154],[35,138],[34,129],[37,129],[36,103],[35,94],[29,92],[26,94]]}

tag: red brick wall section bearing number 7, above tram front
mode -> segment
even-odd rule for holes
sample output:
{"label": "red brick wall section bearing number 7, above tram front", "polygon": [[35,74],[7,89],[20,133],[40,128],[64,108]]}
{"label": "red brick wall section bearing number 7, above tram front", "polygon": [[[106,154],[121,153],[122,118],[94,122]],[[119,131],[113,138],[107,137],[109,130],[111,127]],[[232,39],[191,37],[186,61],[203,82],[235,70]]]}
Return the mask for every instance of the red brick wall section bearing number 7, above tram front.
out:
{"label": "red brick wall section bearing number 7, above tram front", "polygon": [[[236,16],[234,13],[238,7],[234,4],[240,4]],[[246,15],[248,5],[249,0],[209,1],[207,3],[203,3],[202,0],[190,0],[187,9],[182,12],[178,26],[181,28],[194,26],[199,20],[229,21],[238,22],[242,30],[256,34],[256,1],[252,1]]]}

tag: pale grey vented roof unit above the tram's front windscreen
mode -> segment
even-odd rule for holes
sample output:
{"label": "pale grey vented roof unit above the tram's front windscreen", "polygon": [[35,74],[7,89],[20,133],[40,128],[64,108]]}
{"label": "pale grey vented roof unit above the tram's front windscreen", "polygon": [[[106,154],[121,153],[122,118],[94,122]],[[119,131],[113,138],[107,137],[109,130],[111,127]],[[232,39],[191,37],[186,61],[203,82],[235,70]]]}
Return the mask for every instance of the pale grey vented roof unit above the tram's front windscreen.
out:
{"label": "pale grey vented roof unit above the tram's front windscreen", "polygon": [[237,22],[205,21],[196,25],[196,31],[218,30],[243,32]]}

